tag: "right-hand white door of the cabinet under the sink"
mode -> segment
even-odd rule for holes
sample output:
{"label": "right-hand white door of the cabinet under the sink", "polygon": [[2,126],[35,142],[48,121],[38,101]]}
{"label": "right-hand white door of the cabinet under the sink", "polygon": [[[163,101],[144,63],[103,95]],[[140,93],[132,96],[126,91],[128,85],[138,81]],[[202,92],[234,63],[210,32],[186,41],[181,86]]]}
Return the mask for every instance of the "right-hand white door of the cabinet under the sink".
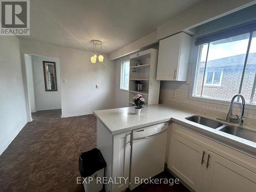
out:
{"label": "right-hand white door of the cabinet under the sink", "polygon": [[208,151],[202,191],[227,192],[256,190],[256,174]]}

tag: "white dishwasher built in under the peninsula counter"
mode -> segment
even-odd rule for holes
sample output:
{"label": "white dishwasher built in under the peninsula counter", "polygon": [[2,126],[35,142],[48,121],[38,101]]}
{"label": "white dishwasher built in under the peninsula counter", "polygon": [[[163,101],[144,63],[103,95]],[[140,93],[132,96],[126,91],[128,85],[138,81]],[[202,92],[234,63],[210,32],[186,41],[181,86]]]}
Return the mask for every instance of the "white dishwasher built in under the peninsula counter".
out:
{"label": "white dishwasher built in under the peninsula counter", "polygon": [[[143,127],[133,131],[130,185],[132,190],[141,183],[163,172],[168,122]],[[137,180],[135,180],[137,179]]]}

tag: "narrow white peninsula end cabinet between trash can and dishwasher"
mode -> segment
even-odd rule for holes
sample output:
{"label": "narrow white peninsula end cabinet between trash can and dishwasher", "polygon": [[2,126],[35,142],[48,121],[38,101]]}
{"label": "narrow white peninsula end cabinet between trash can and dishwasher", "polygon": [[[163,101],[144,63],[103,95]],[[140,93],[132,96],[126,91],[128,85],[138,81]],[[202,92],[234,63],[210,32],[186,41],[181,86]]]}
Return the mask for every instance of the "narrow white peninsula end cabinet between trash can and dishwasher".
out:
{"label": "narrow white peninsula end cabinet between trash can and dishwasher", "polygon": [[[111,135],[108,129],[97,119],[97,148],[105,161],[106,192],[119,192],[129,187],[131,132]],[[121,178],[121,179],[119,179]],[[123,178],[126,179],[126,182]],[[116,184],[114,182],[116,179]],[[110,181],[110,182],[108,182]],[[120,182],[119,182],[120,181]]]}

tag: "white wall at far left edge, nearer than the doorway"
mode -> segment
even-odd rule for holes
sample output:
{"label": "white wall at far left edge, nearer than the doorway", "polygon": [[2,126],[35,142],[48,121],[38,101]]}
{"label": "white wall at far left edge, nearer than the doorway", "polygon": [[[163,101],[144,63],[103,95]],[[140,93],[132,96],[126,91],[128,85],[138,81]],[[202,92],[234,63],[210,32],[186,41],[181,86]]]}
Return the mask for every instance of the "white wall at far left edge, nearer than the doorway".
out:
{"label": "white wall at far left edge, nearer than the doorway", "polygon": [[0,36],[0,155],[27,123],[19,40]]}

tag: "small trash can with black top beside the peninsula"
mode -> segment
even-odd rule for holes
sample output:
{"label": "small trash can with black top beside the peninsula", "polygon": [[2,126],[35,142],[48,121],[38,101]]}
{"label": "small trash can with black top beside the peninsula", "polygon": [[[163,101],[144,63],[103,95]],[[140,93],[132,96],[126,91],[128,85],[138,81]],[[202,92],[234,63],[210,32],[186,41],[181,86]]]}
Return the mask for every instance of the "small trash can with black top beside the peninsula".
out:
{"label": "small trash can with black top beside the peninsula", "polygon": [[102,189],[105,166],[106,162],[97,148],[79,155],[79,172],[86,192],[98,192]]}

